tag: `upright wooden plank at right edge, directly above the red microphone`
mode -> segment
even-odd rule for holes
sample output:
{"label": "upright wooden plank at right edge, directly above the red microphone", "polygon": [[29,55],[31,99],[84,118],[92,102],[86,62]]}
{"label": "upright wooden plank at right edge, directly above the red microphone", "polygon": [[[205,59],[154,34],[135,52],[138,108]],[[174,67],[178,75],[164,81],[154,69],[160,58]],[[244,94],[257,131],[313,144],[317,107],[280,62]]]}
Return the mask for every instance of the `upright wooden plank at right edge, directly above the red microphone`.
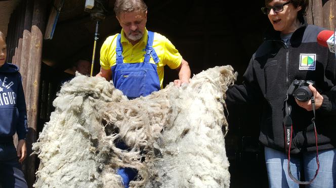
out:
{"label": "upright wooden plank at right edge, directly above the red microphone", "polygon": [[334,30],[336,27],[336,1],[329,0],[323,6],[323,27]]}

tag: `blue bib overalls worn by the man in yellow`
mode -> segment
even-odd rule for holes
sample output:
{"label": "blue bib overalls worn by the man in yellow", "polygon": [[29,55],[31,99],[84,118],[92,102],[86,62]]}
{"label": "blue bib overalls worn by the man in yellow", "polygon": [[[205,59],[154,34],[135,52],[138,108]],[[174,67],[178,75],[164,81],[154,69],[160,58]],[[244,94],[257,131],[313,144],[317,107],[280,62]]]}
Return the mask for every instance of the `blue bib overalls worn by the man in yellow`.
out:
{"label": "blue bib overalls worn by the man in yellow", "polygon": [[[154,48],[154,33],[148,31],[144,62],[123,62],[120,34],[117,37],[116,65],[111,68],[114,87],[121,90],[129,99],[147,96],[160,90],[156,64],[160,61]],[[155,64],[149,62],[152,56]]]}

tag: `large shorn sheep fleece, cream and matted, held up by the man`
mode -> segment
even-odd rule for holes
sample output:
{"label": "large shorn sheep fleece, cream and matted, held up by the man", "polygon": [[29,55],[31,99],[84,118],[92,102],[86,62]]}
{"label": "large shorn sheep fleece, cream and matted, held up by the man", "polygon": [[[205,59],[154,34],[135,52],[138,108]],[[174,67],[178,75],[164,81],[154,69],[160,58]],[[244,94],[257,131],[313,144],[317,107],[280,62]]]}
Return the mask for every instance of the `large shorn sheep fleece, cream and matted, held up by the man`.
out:
{"label": "large shorn sheep fleece, cream and matted, held up by the man", "polygon": [[102,78],[77,75],[33,144],[34,186],[123,187],[116,169],[130,167],[139,172],[130,187],[229,187],[223,106],[235,79],[231,66],[215,67],[128,100]]}

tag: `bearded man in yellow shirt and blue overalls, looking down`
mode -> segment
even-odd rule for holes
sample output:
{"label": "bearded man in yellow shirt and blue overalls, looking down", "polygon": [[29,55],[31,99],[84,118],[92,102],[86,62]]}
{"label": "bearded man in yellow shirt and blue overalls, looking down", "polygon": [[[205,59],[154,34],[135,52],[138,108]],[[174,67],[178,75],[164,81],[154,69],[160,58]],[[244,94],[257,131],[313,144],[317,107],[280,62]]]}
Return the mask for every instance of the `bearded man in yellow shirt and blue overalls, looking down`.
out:
{"label": "bearded man in yellow shirt and blue overalls, looking down", "polygon": [[114,12],[121,33],[109,36],[102,45],[97,76],[112,79],[129,99],[161,89],[165,65],[178,70],[177,86],[189,82],[188,62],[166,37],[146,29],[147,6],[142,0],[117,0]]}

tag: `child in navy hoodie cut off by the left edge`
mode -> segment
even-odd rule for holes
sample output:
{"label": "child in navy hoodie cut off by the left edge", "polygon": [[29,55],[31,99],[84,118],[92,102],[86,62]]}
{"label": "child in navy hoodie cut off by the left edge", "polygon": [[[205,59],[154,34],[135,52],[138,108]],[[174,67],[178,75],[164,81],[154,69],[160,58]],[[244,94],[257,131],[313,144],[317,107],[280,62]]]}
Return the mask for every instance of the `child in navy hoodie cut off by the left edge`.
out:
{"label": "child in navy hoodie cut off by the left edge", "polygon": [[[26,103],[18,67],[5,63],[6,50],[5,35],[0,31],[0,185],[27,187],[20,165],[26,157]],[[19,138],[17,149],[15,133]]]}

